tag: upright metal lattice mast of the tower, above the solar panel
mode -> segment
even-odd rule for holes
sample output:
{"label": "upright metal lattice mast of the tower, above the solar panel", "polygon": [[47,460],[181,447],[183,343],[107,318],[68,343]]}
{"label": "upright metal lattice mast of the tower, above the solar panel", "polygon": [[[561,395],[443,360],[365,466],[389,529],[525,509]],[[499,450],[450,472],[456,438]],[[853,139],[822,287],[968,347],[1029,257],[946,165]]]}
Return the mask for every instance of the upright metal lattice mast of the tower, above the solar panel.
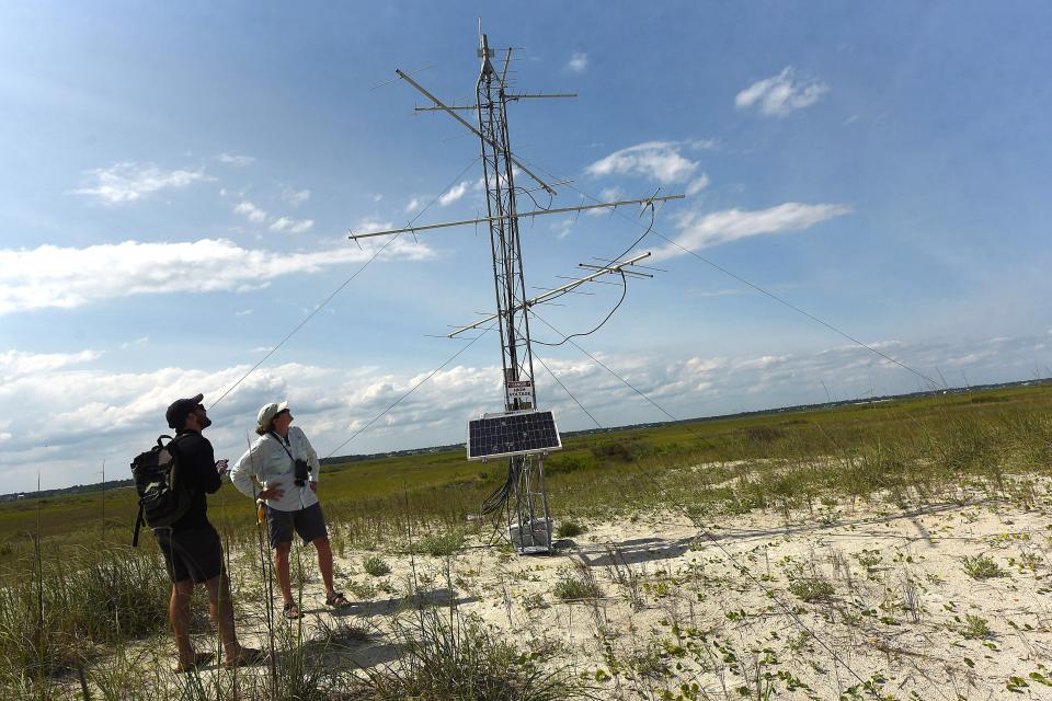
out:
{"label": "upright metal lattice mast of the tower, above the solar panel", "polygon": [[[536,406],[537,390],[533,381],[534,356],[529,340],[529,318],[524,303],[526,284],[518,237],[514,163],[510,158],[512,148],[507,131],[507,94],[504,80],[511,49],[500,76],[490,60],[493,51],[484,34],[481,37],[479,56],[482,58],[482,68],[476,83],[476,105],[479,141],[482,147],[490,246],[493,253],[493,285],[504,371],[504,404],[507,411],[515,411]],[[519,397],[513,397],[510,391],[508,382],[517,381],[530,383],[528,405],[525,405]]]}

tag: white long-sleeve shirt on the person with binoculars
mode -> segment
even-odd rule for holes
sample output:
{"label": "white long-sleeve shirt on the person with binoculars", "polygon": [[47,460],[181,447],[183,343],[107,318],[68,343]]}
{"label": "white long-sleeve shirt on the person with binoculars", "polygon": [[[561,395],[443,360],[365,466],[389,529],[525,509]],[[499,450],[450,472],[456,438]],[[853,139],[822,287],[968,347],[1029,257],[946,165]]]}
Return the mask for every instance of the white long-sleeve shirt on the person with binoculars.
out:
{"label": "white long-sleeve shirt on the person with binoculars", "polygon": [[[264,490],[277,486],[285,490],[282,498],[266,499],[266,505],[279,512],[296,512],[318,503],[318,496],[310,489],[310,484],[296,486],[296,464],[293,458],[306,460],[310,466],[310,481],[318,482],[318,472],[321,463],[318,453],[307,440],[307,436],[298,426],[288,427],[288,452],[275,434],[266,434],[256,438],[252,446],[241,456],[230,470],[230,481],[239,492],[245,496],[254,496],[252,478],[255,478]],[[293,457],[289,457],[289,452]]]}

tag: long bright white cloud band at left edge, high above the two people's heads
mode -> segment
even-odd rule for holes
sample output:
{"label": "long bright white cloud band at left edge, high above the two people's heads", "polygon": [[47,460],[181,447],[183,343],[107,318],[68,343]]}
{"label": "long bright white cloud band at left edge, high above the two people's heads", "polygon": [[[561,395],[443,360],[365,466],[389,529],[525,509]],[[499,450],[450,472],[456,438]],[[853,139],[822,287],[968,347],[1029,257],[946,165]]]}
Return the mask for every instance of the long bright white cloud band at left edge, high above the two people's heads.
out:
{"label": "long bright white cloud band at left edge, high above the two people's heads", "polygon": [[[84,249],[42,245],[0,250],[0,314],[46,307],[164,292],[244,291],[282,275],[315,273],[368,260],[378,248],[363,242],[307,253],[244,249],[224,239],[182,243],[125,241]],[[399,239],[381,257],[425,260],[433,251]],[[195,274],[187,276],[185,271]]]}

